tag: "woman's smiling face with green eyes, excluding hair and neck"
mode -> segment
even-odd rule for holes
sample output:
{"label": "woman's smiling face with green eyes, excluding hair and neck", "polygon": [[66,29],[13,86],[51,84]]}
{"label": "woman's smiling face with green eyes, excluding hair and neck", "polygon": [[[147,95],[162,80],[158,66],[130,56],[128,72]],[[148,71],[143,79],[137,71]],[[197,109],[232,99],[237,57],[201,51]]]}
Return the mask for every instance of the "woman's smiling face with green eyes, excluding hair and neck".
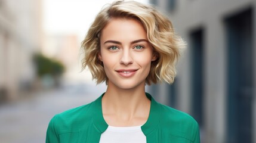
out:
{"label": "woman's smiling face with green eyes, excluding hair and neck", "polygon": [[112,18],[100,37],[98,58],[108,86],[131,89],[144,86],[150,64],[156,60],[142,24],[132,18]]}

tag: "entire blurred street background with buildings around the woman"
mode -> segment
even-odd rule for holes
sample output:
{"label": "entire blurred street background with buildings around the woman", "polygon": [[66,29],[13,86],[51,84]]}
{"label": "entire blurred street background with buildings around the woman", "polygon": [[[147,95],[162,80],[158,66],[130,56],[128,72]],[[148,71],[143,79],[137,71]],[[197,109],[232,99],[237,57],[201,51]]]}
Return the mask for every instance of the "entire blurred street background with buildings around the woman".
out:
{"label": "entire blurred street background with buildings around the woman", "polygon": [[[81,71],[80,44],[112,1],[0,0],[0,142],[45,142],[54,114],[104,92]],[[158,7],[187,42],[174,84],[147,92],[195,117],[201,142],[256,142],[256,1],[139,2]]]}

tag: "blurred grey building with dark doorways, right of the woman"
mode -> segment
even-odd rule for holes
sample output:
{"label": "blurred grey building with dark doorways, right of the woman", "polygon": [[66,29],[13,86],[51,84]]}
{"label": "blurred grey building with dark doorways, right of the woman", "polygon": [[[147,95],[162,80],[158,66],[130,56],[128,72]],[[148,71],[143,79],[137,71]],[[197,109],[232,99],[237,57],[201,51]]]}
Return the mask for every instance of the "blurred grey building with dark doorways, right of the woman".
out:
{"label": "blurred grey building with dark doorways, right of the woman", "polygon": [[150,2],[188,45],[174,84],[149,90],[192,114],[202,142],[256,142],[256,1]]}

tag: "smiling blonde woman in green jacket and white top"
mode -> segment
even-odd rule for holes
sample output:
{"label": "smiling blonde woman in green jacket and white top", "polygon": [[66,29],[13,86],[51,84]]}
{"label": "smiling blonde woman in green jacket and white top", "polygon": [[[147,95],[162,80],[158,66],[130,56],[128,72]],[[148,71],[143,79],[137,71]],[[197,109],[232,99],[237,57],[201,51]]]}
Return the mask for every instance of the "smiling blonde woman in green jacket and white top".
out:
{"label": "smiling blonde woman in green jacket and white top", "polygon": [[90,104],[55,115],[46,142],[200,142],[191,116],[145,93],[146,84],[173,82],[183,45],[155,8],[134,1],[108,5],[82,42],[83,67],[107,90]]}

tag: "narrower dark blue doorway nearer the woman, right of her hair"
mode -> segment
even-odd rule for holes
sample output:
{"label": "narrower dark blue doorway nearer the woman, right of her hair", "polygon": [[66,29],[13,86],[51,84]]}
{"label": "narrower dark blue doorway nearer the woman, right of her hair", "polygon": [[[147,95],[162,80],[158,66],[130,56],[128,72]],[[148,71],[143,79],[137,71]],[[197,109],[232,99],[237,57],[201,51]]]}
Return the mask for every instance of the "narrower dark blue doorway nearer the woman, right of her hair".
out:
{"label": "narrower dark blue doorway nearer the woman, right of her hair", "polygon": [[203,126],[203,29],[190,32],[192,115]]}

